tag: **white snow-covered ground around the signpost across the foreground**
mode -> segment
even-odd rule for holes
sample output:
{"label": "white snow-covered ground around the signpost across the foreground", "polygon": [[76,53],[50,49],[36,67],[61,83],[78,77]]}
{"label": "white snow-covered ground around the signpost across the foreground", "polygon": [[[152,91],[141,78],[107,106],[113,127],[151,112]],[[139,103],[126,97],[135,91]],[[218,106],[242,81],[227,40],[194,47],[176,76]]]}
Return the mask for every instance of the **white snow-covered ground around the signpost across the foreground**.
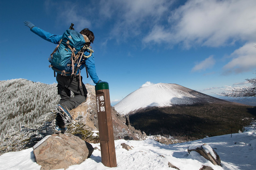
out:
{"label": "white snow-covered ground around the signpost across the foreground", "polygon": [[[121,143],[133,146],[125,150]],[[188,146],[208,144],[219,155],[221,166],[213,165],[199,153],[187,152]],[[92,144],[100,149],[100,144]],[[179,144],[161,144],[152,139],[143,141],[116,140],[117,167],[109,168],[101,163],[101,152],[94,150],[91,157],[80,165],[73,165],[68,170],[103,170],[103,169],[172,169],[168,162],[180,170],[199,170],[202,165],[211,166],[214,170],[255,170],[256,169],[256,125],[245,128],[243,133],[208,137],[201,140]],[[33,149],[9,152],[0,156],[1,170],[40,170],[35,162]]]}

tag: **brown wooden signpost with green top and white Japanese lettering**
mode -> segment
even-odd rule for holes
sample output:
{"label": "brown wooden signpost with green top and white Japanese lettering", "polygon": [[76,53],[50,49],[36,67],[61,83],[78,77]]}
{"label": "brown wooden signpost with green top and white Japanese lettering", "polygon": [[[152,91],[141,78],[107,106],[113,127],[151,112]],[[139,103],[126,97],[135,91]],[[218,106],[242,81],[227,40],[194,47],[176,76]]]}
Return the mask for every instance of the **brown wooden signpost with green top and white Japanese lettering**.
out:
{"label": "brown wooden signpost with green top and white Japanese lettering", "polygon": [[107,83],[98,83],[95,85],[95,92],[100,135],[101,162],[104,166],[116,167],[116,151],[109,85]]}

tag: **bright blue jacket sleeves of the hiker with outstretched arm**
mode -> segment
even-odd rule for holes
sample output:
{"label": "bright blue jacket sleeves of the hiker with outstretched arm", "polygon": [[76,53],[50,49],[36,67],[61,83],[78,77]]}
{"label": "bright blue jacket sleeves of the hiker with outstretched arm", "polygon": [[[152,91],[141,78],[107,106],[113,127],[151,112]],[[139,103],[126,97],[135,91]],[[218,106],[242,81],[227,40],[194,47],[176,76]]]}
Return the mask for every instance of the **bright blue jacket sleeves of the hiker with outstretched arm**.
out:
{"label": "bright blue jacket sleeves of the hiker with outstretched arm", "polygon": [[[54,34],[48,33],[36,26],[32,27],[32,29],[30,29],[30,31],[37,34],[39,37],[43,38],[44,40],[52,42],[54,44],[59,44],[59,41],[62,38],[62,35],[54,35]],[[85,54],[85,55],[88,55],[88,54]],[[93,80],[93,82],[95,84],[97,84],[99,81],[99,78],[97,76],[96,69],[95,69],[95,61],[94,61],[93,53],[92,53],[91,57],[85,59],[85,63],[86,63],[87,71],[88,71],[91,79]],[[82,66],[82,68],[83,68],[83,66]]]}

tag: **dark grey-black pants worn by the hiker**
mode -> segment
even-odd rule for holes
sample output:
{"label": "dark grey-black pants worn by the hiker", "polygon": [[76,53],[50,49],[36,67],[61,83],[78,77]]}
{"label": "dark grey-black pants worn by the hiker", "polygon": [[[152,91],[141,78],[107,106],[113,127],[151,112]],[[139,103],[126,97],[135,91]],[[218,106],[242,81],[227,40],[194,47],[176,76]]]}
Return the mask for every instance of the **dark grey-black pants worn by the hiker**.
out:
{"label": "dark grey-black pants worn by the hiker", "polygon": [[[82,87],[80,87],[79,76],[62,76],[57,74],[56,80],[58,82],[58,94],[61,96],[59,104],[67,111],[70,112],[70,110],[78,107],[83,101],[86,100],[88,92],[84,83],[82,82],[82,76]],[[70,98],[71,91],[74,93],[73,98]],[[61,115],[58,113],[56,115],[56,125],[58,125],[60,128],[65,127],[65,123]]]}

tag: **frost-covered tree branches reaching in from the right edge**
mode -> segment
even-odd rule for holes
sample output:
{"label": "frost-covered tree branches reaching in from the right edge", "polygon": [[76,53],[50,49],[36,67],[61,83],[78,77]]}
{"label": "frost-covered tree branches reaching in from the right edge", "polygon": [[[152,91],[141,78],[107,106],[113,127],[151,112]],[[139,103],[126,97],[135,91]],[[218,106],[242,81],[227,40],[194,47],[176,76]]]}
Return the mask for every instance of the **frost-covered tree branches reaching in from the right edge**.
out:
{"label": "frost-covered tree branches reaching in from the right edge", "polygon": [[222,92],[218,95],[220,96],[228,96],[228,97],[256,97],[256,78],[246,79],[251,86],[237,86],[231,87],[226,86],[224,89],[226,92]]}

